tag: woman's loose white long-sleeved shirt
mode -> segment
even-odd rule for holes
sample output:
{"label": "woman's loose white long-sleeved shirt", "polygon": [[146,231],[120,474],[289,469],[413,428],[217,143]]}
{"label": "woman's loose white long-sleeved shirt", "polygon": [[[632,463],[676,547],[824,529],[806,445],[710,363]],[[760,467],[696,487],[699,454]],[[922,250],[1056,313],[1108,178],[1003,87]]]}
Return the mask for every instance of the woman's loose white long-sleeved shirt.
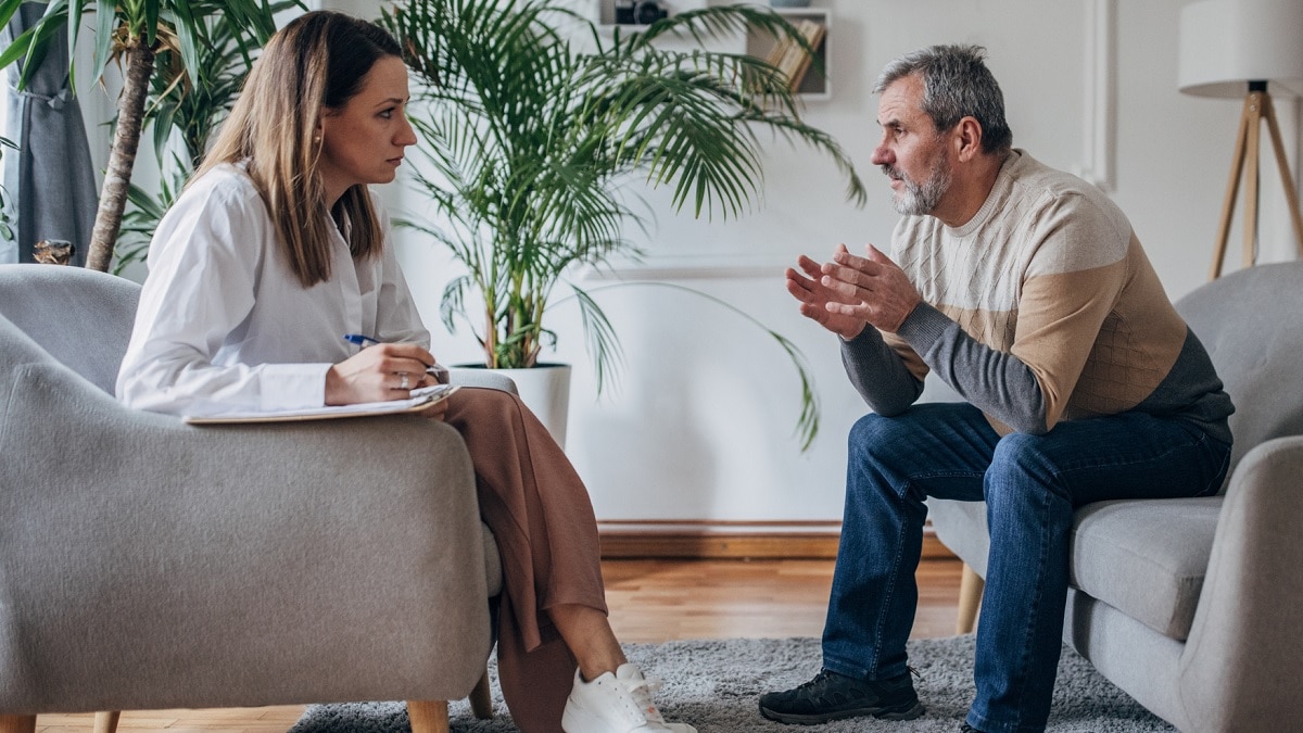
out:
{"label": "woman's loose white long-sleeved shirt", "polygon": [[331,227],[331,279],[304,288],[238,167],[194,181],[150,245],[117,398],[175,415],[321,407],[327,369],[358,350],[344,334],[429,347],[380,220],[383,254],[361,261]]}

